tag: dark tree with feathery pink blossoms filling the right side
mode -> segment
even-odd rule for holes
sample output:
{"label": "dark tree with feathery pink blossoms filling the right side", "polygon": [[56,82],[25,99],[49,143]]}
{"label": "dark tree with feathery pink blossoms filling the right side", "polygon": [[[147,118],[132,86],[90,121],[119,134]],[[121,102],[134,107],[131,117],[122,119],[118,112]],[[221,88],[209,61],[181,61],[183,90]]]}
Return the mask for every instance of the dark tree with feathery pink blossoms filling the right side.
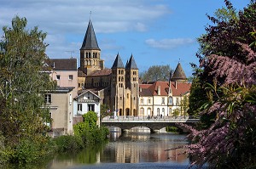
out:
{"label": "dark tree with feathery pink blossoms filling the right side", "polygon": [[[227,11],[234,8],[225,0]],[[237,17],[209,17],[214,25],[203,35],[200,54],[202,72],[198,81],[207,93],[200,115],[211,116],[203,130],[188,127],[193,144],[188,145],[192,164],[213,168],[250,168],[256,164],[256,48],[253,32],[256,3]],[[201,87],[196,87],[200,89]],[[195,88],[194,88],[195,89]],[[189,103],[191,104],[191,102]],[[196,109],[194,109],[196,110]]]}

